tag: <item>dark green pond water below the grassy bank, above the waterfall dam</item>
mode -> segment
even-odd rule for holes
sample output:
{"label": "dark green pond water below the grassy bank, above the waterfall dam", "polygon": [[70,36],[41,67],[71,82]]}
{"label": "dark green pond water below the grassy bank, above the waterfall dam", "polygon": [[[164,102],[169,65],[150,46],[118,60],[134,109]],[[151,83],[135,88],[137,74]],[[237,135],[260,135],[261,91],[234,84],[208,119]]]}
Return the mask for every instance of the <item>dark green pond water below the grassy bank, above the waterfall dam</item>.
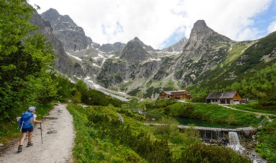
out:
{"label": "dark green pond water below the grassy bank, above the waterfall dam", "polygon": [[[163,117],[163,115],[159,114],[152,114],[152,113],[143,113],[146,117],[146,123],[156,122]],[[180,125],[188,125],[188,124],[195,124],[195,126],[201,127],[216,127],[216,128],[237,128],[238,126],[229,125],[229,124],[221,124],[221,123],[214,123],[214,122],[206,122],[202,120],[194,120],[194,119],[186,119],[186,118],[179,118],[174,117],[174,119],[180,123]]]}

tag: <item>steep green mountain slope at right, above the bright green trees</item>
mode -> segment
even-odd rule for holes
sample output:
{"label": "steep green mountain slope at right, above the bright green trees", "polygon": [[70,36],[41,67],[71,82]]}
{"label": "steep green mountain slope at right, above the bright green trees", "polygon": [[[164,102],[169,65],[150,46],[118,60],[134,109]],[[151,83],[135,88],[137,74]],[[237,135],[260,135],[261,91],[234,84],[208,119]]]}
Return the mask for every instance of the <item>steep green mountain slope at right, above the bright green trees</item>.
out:
{"label": "steep green mountain slope at right, above the bright green trees", "polygon": [[[244,49],[247,45],[248,48]],[[256,71],[276,63],[276,32],[257,41],[241,41],[232,46],[224,61],[203,73],[193,81],[202,87],[215,88],[215,84],[226,87],[244,78],[253,77]],[[255,79],[262,80],[262,79]],[[269,79],[272,82],[272,79]]]}

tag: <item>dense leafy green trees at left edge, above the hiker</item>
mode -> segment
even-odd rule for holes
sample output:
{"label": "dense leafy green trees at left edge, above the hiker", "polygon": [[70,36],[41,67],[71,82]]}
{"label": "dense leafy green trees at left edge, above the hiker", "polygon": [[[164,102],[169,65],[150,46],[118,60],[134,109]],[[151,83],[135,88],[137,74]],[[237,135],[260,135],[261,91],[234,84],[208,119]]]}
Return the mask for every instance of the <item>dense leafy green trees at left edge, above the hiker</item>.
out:
{"label": "dense leafy green trees at left edge, above the hiker", "polygon": [[[26,0],[0,1],[0,126],[27,110],[57,97],[50,66],[54,60],[46,39],[28,20]],[[33,35],[28,36],[32,32]],[[48,71],[46,71],[48,70]],[[2,128],[2,127],[0,127]]]}

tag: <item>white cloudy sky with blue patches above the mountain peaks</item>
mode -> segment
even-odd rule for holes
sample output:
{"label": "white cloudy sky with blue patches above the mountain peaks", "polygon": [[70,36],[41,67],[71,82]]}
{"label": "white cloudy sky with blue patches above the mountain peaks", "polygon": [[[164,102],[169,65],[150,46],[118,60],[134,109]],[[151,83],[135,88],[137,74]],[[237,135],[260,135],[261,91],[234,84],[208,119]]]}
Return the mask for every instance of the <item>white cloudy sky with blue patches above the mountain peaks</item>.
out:
{"label": "white cloudy sky with blue patches above the mountain peaks", "polygon": [[205,20],[215,32],[235,41],[256,40],[276,31],[276,0],[28,0],[70,18],[94,42],[138,37],[163,49],[186,37]]}

